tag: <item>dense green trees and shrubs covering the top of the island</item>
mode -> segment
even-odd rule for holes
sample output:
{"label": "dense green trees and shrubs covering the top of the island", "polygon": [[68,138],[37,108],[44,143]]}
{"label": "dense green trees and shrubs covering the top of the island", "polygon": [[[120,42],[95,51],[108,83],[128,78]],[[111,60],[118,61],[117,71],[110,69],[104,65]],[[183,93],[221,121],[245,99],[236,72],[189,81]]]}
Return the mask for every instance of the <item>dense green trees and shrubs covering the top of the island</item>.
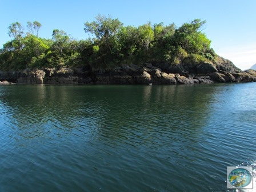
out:
{"label": "dense green trees and shrubs covering the top of the island", "polygon": [[98,15],[85,23],[85,33],[94,38],[77,41],[54,29],[52,38],[38,37],[41,23],[27,22],[27,33],[21,23],[9,26],[13,39],[0,50],[0,69],[19,70],[43,67],[86,67],[110,69],[114,66],[165,62],[178,65],[182,61],[211,60],[214,51],[202,33],[205,21],[195,19],[177,28],[173,23],[139,27],[123,26],[118,19]]}

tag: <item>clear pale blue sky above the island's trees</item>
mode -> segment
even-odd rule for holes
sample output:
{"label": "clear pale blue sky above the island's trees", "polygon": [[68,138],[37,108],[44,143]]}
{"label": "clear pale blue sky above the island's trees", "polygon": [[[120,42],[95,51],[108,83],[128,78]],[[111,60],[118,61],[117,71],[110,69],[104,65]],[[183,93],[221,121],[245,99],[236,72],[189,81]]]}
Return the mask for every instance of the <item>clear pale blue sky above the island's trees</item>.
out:
{"label": "clear pale blue sky above the island's trees", "polygon": [[40,22],[42,38],[59,29],[79,40],[88,37],[84,23],[98,14],[118,18],[124,26],[150,21],[179,27],[200,18],[207,22],[203,32],[215,52],[245,70],[256,63],[255,9],[255,0],[0,0],[0,47],[10,41],[7,27],[13,22],[25,27],[27,21]]}

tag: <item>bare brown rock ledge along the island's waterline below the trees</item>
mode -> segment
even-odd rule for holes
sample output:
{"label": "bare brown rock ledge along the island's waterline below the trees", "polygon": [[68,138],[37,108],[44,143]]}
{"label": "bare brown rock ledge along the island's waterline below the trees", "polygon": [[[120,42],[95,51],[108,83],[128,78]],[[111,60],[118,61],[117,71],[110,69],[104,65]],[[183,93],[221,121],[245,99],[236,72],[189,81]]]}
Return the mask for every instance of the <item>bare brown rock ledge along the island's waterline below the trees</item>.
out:
{"label": "bare brown rock ledge along the island's waterline below the trees", "polygon": [[[256,82],[256,71],[241,71],[229,60],[221,58],[217,65],[201,63],[197,66],[122,66],[108,71],[82,69],[40,69],[0,72],[0,84],[141,84],[161,85],[199,84],[213,82]],[[8,81],[8,82],[7,82]]]}

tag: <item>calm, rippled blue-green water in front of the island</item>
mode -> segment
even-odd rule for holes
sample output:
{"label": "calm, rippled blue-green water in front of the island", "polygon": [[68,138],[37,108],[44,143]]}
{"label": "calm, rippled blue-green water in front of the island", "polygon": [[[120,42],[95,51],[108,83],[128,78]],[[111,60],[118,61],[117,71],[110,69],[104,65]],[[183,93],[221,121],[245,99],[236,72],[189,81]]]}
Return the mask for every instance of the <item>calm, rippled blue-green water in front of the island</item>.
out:
{"label": "calm, rippled blue-green water in front of the island", "polygon": [[0,86],[0,191],[228,191],[256,83]]}

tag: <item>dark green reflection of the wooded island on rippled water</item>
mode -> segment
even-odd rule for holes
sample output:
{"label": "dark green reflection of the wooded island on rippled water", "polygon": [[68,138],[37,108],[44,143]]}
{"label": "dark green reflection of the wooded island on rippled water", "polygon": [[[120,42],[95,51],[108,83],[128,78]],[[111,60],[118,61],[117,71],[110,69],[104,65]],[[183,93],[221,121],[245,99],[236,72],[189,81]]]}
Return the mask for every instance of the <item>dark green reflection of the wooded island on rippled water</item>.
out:
{"label": "dark green reflection of the wooded island on rippled water", "polygon": [[138,131],[154,125],[169,129],[190,126],[196,132],[210,114],[210,98],[206,89],[194,91],[193,86],[42,85],[11,87],[1,101],[9,109],[3,114],[9,126],[38,130],[24,134],[27,138],[45,137],[54,129],[90,126],[102,129],[102,134],[106,131],[106,137],[118,138],[127,131],[123,127],[132,129],[133,123]]}

